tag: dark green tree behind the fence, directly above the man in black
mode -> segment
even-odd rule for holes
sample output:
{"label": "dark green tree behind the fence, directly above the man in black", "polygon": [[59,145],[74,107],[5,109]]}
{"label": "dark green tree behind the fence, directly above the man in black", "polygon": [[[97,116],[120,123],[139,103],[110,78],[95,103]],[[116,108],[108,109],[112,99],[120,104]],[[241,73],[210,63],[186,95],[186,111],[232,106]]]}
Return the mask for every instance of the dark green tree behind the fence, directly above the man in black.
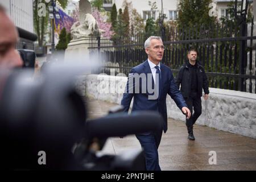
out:
{"label": "dark green tree behind the fence, directly above the man in black", "polygon": [[[199,35],[205,35],[207,30],[204,31],[203,27],[213,27],[216,25],[216,17],[209,16],[210,8],[208,6],[210,3],[212,3],[212,0],[180,0],[177,24],[180,30],[184,28],[182,30],[184,34],[182,38],[180,37],[181,39],[184,39],[185,34],[189,34],[189,29],[200,32]],[[196,39],[196,37],[190,39]]]}

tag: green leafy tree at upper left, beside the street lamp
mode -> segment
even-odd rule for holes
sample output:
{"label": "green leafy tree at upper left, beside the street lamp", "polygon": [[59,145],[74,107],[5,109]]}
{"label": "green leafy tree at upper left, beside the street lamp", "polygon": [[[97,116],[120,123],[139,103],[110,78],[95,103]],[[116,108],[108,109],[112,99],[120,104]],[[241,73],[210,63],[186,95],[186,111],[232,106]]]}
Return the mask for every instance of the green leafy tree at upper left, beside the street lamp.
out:
{"label": "green leafy tree at upper left, beside the street lamp", "polygon": [[[60,0],[61,7],[65,8],[67,6],[68,0]],[[42,9],[42,6],[40,6],[40,3],[43,3],[46,7],[46,15],[45,16],[39,16],[39,11]],[[46,35],[46,31],[48,28],[48,20],[49,20],[49,12],[48,7],[51,5],[50,2],[46,2],[43,0],[34,0],[33,1],[33,14],[34,14],[34,28],[35,32],[38,35],[38,44],[39,46],[43,46],[44,44],[44,35]]]}

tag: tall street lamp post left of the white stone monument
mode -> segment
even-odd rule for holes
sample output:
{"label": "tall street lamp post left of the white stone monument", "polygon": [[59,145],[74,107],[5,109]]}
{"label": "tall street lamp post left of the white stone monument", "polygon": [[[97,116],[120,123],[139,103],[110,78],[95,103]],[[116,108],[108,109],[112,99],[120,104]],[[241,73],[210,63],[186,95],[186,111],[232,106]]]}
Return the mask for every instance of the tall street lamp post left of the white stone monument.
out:
{"label": "tall street lamp post left of the white stone monument", "polygon": [[59,9],[56,7],[55,0],[51,0],[51,6],[49,6],[49,18],[52,21],[52,53],[55,51],[55,43],[54,43],[54,17],[60,19]]}

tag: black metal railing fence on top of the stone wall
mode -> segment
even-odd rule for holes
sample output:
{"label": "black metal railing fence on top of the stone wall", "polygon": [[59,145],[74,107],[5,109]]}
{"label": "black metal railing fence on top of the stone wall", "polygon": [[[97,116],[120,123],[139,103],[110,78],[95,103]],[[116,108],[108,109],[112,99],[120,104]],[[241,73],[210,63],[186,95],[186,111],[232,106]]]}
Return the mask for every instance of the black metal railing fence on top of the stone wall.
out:
{"label": "black metal railing fence on top of the stone wall", "polygon": [[[163,42],[166,49],[162,63],[172,69],[174,76],[187,60],[188,49],[195,47],[197,60],[205,68],[210,87],[256,93],[256,46],[253,46],[256,36],[253,36],[253,26],[248,31],[249,36],[244,36],[246,30],[236,30],[229,25],[184,30],[172,30],[171,41]],[[105,38],[92,38],[90,53],[100,56],[104,65],[95,73],[124,73],[127,76],[132,67],[147,59],[144,40],[143,36],[124,36],[117,43]]]}

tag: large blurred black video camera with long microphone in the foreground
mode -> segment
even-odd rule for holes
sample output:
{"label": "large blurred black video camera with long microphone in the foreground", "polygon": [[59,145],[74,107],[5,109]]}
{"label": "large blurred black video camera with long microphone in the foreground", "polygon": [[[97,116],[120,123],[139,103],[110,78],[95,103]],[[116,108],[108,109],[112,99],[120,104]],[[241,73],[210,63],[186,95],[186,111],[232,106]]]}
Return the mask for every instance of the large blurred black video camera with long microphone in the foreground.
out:
{"label": "large blurred black video camera with long microphone in the foreground", "polygon": [[[28,72],[0,70],[1,168],[145,169],[141,149],[120,155],[98,156],[97,152],[109,137],[158,129],[162,119],[159,114],[128,115],[118,112],[119,108],[106,117],[89,120],[89,106],[74,84],[77,69],[48,67],[38,80],[32,80]],[[45,161],[42,154],[46,154]]]}

